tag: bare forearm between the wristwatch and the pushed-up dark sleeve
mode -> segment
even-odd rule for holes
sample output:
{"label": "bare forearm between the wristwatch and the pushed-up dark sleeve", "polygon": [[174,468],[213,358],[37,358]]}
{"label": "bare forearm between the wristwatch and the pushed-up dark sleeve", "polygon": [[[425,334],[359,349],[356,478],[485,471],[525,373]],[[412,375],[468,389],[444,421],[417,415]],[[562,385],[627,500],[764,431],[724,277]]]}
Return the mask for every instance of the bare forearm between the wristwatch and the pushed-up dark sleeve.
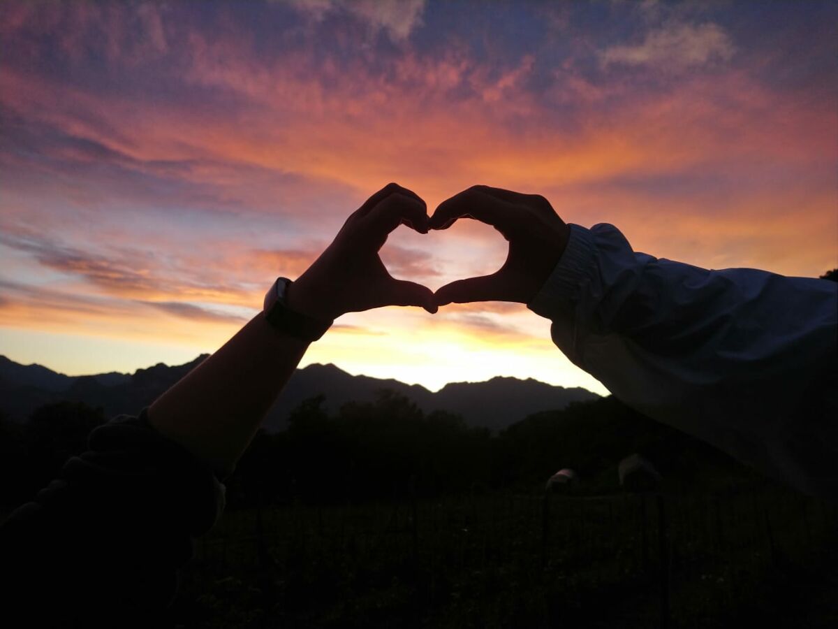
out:
{"label": "bare forearm between the wristwatch and the pushed-up dark sleeve", "polygon": [[149,423],[215,470],[229,471],[307,348],[257,314],[152,404]]}

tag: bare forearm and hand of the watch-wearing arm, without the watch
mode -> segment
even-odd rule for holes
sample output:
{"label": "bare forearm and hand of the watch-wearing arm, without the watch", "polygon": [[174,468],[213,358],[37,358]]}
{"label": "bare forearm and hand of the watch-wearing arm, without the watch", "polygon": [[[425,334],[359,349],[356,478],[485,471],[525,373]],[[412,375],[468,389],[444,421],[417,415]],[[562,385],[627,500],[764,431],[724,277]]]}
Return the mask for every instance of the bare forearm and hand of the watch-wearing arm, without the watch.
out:
{"label": "bare forearm and hand of the watch-wearing arm, without the watch", "polygon": [[[320,323],[385,305],[435,311],[429,289],[392,278],[378,256],[387,235],[402,222],[427,231],[425,203],[410,190],[387,185],[349,216],[332,244],[287,288],[284,307]],[[223,476],[251,442],[307,348],[308,341],[280,332],[257,314],[152,404],[149,423]]]}

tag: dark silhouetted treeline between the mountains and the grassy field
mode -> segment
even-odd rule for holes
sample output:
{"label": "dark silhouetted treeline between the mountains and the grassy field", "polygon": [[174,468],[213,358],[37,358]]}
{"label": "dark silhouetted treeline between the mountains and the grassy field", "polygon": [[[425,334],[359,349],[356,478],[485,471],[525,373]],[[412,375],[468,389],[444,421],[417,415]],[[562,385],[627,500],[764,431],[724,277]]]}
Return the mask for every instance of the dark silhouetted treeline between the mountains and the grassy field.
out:
{"label": "dark silhouetted treeline between the mountains and the grassy field", "polygon": [[[671,491],[715,491],[753,478],[727,456],[613,397],[536,413],[495,435],[452,413],[423,413],[390,391],[337,413],[323,402],[323,396],[304,401],[285,432],[257,434],[227,480],[230,507],[535,493],[563,467],[580,474],[576,491],[612,493],[619,491],[618,461],[635,452],[654,462]],[[34,496],[105,421],[101,409],[65,402],[39,408],[25,424],[0,422],[5,506]]]}

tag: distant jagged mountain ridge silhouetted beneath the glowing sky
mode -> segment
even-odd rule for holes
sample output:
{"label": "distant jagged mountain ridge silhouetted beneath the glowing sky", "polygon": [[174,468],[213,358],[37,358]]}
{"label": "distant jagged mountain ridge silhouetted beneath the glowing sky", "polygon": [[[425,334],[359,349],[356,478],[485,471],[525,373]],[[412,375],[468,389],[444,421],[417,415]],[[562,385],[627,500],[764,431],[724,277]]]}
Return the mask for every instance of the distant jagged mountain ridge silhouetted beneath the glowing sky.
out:
{"label": "distant jagged mountain ridge silhouetted beneath the glowing sky", "polygon": [[[184,377],[208,355],[184,365],[163,363],[94,376],[66,376],[40,365],[20,365],[0,356],[0,411],[23,421],[35,408],[60,400],[102,407],[107,416],[136,414]],[[572,402],[598,398],[582,387],[555,387],[532,378],[494,377],[486,382],[453,382],[438,392],[394,379],[353,376],[339,367],[313,364],[292,374],[277,403],[267,415],[265,428],[287,428],[288,413],[304,399],[323,394],[325,407],[337,410],[347,402],[371,402],[382,389],[391,389],[411,399],[425,412],[445,410],[463,416],[471,426],[503,429],[531,413],[565,408]]]}

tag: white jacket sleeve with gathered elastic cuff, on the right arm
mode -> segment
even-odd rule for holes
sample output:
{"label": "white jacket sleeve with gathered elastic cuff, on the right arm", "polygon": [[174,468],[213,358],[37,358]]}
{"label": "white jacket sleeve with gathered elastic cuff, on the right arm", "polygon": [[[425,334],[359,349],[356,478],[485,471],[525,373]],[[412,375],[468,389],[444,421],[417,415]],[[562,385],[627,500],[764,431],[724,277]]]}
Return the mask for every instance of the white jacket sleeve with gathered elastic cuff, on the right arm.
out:
{"label": "white jacket sleeve with gathered elastic cuff, on the right arm", "polygon": [[838,496],[838,283],[708,271],[572,225],[528,304],[613,394],[801,491]]}

